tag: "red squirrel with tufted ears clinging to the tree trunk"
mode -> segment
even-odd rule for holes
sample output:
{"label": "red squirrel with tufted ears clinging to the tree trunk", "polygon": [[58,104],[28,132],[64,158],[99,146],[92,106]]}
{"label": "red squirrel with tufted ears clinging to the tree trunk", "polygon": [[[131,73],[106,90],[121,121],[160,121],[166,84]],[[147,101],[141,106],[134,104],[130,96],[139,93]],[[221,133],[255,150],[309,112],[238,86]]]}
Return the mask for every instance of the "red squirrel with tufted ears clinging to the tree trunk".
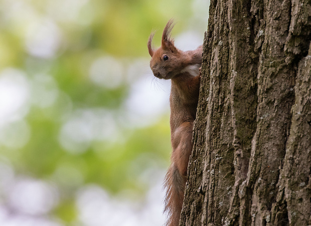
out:
{"label": "red squirrel with tufted ears clinging to the tree trunk", "polygon": [[178,226],[193,146],[192,132],[199,99],[202,46],[186,52],[177,49],[170,35],[173,27],[173,20],[170,20],[163,31],[159,49],[151,47],[152,33],[147,46],[153,75],[159,79],[171,79],[172,82],[170,125],[173,151],[172,163],[165,179],[165,211],[169,215],[167,225]]}

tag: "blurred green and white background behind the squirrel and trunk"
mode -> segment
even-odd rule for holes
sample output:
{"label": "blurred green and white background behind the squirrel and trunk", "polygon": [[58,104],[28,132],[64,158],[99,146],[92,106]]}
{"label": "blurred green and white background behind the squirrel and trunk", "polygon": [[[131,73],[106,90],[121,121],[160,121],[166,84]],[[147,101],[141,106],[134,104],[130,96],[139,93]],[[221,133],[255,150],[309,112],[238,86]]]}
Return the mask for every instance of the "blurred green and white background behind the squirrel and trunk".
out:
{"label": "blurred green and white background behind the squirrel and trunk", "polygon": [[0,0],[0,225],[162,225],[166,23],[203,43],[208,0]]}

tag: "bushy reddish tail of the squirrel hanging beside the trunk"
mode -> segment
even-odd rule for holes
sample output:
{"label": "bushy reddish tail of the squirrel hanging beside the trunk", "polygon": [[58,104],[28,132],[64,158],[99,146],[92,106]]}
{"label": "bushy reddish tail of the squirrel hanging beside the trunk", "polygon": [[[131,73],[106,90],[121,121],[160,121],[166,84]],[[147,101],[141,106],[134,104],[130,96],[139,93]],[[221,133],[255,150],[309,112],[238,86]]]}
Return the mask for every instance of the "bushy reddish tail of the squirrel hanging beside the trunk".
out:
{"label": "bushy reddish tail of the squirrel hanging beside the trunk", "polygon": [[167,189],[164,211],[169,215],[166,224],[167,226],[178,226],[179,224],[179,218],[184,201],[186,180],[187,177],[182,175],[177,167],[172,163],[166,174],[164,184]]}

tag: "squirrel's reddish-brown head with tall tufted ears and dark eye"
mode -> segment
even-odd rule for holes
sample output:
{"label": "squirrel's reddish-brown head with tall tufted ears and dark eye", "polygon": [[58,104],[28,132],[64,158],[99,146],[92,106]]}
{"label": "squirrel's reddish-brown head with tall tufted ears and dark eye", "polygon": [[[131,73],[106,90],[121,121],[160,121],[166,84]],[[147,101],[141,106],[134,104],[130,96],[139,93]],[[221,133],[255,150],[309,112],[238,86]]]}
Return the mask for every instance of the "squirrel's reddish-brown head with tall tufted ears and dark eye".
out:
{"label": "squirrel's reddish-brown head with tall tufted ears and dark eye", "polygon": [[151,33],[148,40],[148,52],[151,56],[150,68],[153,75],[160,79],[172,79],[181,72],[187,61],[186,54],[174,46],[171,39],[173,20],[170,20],[164,28],[162,34],[161,47],[157,50],[152,49],[151,42],[154,33]]}

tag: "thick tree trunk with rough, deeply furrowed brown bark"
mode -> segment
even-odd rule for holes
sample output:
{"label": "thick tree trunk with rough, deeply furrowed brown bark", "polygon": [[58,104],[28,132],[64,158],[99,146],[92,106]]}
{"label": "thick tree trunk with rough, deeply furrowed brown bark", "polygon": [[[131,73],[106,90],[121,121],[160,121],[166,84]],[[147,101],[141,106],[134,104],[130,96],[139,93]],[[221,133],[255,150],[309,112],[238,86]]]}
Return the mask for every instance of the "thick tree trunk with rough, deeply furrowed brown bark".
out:
{"label": "thick tree trunk with rough, deeply furrowed brown bark", "polygon": [[311,1],[209,12],[180,225],[309,225]]}

